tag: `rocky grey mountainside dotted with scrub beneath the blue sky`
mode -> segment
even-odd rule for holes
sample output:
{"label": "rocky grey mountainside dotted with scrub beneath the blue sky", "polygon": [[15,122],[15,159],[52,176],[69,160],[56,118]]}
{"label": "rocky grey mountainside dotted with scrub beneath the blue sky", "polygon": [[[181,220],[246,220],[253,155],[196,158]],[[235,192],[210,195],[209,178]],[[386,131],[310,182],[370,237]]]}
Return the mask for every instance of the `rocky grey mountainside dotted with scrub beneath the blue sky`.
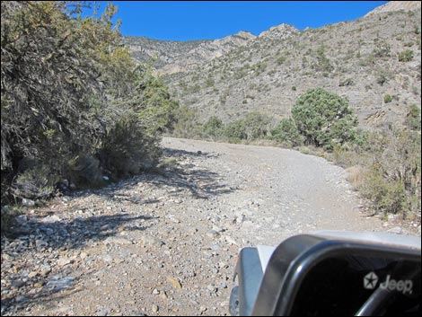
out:
{"label": "rocky grey mountainside dotted with scrub beneath the blue sky", "polygon": [[259,36],[126,40],[138,60],[157,55],[155,66],[173,98],[198,110],[203,121],[239,119],[253,110],[288,117],[300,94],[322,87],[348,99],[361,127],[382,128],[421,104],[420,4],[402,10],[413,2],[401,3],[319,29],[281,24]]}

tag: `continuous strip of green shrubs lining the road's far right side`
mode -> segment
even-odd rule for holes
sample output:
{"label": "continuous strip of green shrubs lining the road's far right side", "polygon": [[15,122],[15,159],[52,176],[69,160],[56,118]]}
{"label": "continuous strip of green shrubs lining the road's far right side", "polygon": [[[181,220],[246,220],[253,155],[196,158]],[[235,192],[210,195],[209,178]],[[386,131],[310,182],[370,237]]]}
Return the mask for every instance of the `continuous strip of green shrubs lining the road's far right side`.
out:
{"label": "continuous strip of green shrubs lining the road's far right side", "polygon": [[257,111],[245,119],[224,123],[213,116],[205,123],[190,109],[190,128],[184,137],[232,143],[259,143],[295,147],[350,168],[351,181],[368,198],[375,213],[403,219],[420,218],[421,139],[420,109],[412,104],[404,126],[383,131],[361,131],[346,99],[321,88],[298,96],[290,118],[279,123]]}

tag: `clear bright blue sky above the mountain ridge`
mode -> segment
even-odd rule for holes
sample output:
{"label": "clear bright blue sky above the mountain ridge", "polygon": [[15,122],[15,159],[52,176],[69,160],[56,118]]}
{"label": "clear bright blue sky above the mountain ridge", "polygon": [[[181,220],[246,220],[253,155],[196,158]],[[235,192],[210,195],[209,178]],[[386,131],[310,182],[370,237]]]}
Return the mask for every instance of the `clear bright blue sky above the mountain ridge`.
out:
{"label": "clear bright blue sky above the mountain ridge", "polygon": [[[112,1],[125,36],[215,40],[281,23],[303,30],[353,21],[387,1]],[[101,2],[102,7],[105,2]]]}

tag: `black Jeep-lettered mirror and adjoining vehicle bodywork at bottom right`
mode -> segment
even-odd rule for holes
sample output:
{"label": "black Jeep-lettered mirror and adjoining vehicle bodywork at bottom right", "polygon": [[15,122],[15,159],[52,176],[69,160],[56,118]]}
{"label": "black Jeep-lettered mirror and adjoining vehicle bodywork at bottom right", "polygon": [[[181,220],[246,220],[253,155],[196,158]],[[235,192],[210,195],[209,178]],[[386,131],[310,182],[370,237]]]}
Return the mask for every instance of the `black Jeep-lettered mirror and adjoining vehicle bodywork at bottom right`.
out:
{"label": "black Jeep-lettered mirror and adjoining vehicle bodywork at bottom right", "polygon": [[238,259],[241,315],[421,313],[418,237],[322,232],[291,237],[269,255],[260,248]]}

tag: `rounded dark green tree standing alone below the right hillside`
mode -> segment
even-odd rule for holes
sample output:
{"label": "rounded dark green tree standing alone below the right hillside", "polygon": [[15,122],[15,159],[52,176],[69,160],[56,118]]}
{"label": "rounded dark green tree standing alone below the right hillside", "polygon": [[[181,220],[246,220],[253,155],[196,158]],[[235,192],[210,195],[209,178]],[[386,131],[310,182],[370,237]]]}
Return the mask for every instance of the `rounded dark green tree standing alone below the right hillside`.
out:
{"label": "rounded dark green tree standing alone below the right hillside", "polygon": [[348,101],[335,93],[315,88],[304,92],[292,108],[292,118],[305,143],[332,149],[355,139],[356,116]]}

